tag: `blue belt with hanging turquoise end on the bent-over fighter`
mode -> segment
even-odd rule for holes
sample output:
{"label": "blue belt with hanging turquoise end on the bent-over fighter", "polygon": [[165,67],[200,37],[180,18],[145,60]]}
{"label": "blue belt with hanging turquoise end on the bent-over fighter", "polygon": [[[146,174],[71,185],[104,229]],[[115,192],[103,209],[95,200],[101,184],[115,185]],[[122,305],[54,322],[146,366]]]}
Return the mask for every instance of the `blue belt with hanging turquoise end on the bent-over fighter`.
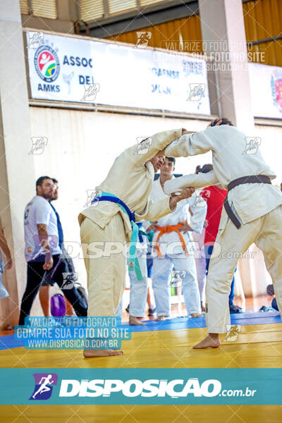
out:
{"label": "blue belt with hanging turquoise end on the bent-over fighter", "polygon": [[130,238],[130,247],[129,247],[129,257],[128,257],[128,270],[135,271],[137,280],[141,281],[143,276],[142,276],[142,271],[140,269],[140,264],[138,262],[137,255],[136,255],[136,243],[137,243],[137,238],[139,235],[139,227],[137,226],[137,223],[135,223],[134,212],[131,212],[128,206],[120,198],[116,197],[116,195],[114,194],[110,194],[109,192],[102,192],[102,193],[99,192],[99,194],[97,194],[93,198],[91,204],[93,204],[94,202],[99,202],[99,201],[114,202],[118,204],[118,206],[121,207],[123,212],[125,212],[128,215],[131,228],[132,228],[132,234]]}

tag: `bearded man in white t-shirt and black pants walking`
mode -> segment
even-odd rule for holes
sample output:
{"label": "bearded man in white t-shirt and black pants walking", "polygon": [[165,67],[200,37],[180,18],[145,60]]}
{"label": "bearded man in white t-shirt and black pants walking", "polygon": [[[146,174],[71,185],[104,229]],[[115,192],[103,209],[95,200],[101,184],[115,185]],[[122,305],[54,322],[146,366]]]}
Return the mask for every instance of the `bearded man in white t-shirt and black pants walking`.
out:
{"label": "bearded man in white t-shirt and black pants walking", "polygon": [[[57,218],[49,204],[53,196],[54,183],[49,176],[41,176],[36,182],[37,195],[25,207],[25,259],[27,261],[27,286],[20,305],[19,324],[30,315],[44,277],[52,278],[62,289],[63,273],[68,272],[66,260],[60,258]],[[73,305],[78,316],[87,315],[78,290],[73,286],[63,289],[63,293]]]}

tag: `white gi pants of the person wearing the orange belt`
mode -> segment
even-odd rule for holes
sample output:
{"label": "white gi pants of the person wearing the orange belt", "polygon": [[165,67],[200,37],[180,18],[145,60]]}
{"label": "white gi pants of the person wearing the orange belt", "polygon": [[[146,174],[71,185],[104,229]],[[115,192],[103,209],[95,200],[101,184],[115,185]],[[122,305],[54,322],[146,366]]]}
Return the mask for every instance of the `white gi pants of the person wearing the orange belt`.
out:
{"label": "white gi pants of the person wearing the orange belt", "polygon": [[195,258],[184,254],[165,255],[154,258],[152,288],[157,307],[157,316],[171,316],[169,276],[172,267],[176,271],[185,271],[182,291],[185,307],[189,314],[200,313],[200,293],[197,284]]}

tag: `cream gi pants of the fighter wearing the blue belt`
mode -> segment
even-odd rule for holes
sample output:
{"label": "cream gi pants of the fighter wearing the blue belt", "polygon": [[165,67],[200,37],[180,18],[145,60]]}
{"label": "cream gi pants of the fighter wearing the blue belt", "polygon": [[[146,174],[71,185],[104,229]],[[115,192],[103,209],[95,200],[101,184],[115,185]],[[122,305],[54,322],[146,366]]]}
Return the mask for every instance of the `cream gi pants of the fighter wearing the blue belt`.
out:
{"label": "cream gi pants of the fighter wearing the blue belt", "polygon": [[[114,316],[125,288],[126,239],[121,214],[116,214],[104,229],[85,217],[80,226],[80,238],[87,247],[84,259],[88,286],[87,314]],[[113,242],[118,247],[109,244]]]}

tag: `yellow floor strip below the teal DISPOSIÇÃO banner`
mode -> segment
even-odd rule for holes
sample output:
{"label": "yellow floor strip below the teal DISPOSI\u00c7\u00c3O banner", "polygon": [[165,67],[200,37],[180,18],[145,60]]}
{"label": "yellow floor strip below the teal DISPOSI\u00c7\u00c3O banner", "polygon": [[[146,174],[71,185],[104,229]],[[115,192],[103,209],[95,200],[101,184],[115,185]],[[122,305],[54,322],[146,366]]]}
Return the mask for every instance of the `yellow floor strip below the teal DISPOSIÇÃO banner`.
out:
{"label": "yellow floor strip below the teal DISPOSI\u00c7\u00c3O banner", "polygon": [[281,423],[278,405],[2,405],[3,423]]}

